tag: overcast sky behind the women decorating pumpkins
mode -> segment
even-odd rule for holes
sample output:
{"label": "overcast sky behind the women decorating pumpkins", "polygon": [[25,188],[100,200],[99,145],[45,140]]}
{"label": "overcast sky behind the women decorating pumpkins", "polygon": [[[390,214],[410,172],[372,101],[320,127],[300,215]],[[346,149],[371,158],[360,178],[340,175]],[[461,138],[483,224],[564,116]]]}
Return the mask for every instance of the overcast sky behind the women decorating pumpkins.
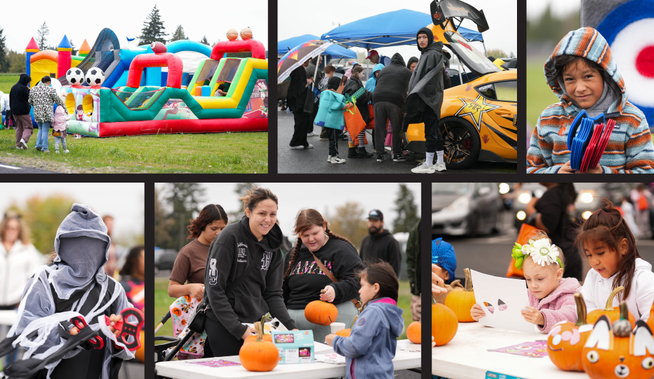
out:
{"label": "overcast sky behind the women decorating pumpkins", "polygon": [[[336,214],[335,207],[346,201],[357,201],[366,209],[366,214],[372,209],[379,209],[384,215],[384,222],[390,223],[397,216],[394,201],[399,190],[398,183],[257,183],[260,187],[269,188],[279,200],[277,220],[286,236],[293,235],[295,215],[300,209],[313,208],[329,221],[329,216]],[[406,183],[414,195],[420,211],[420,183]],[[163,183],[156,183],[162,189]],[[219,204],[226,212],[242,212],[242,203],[234,192],[235,183],[202,183],[207,189],[204,203]],[[230,220],[230,223],[233,220]]]}

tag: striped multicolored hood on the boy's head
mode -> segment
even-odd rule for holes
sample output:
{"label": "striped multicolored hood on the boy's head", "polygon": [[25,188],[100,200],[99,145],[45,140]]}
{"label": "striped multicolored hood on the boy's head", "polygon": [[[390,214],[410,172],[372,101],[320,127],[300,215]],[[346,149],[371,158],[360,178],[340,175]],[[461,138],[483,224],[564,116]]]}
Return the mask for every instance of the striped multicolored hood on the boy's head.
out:
{"label": "striped multicolored hood on the boy's head", "polygon": [[547,83],[552,89],[552,92],[558,96],[563,105],[565,112],[580,112],[580,109],[574,105],[572,100],[565,94],[560,87],[560,83],[553,77],[554,72],[554,61],[555,57],[560,55],[576,55],[598,63],[611,79],[615,81],[620,88],[620,101],[614,103],[609,107],[611,112],[620,112],[627,100],[626,90],[624,86],[624,80],[622,80],[622,75],[618,71],[618,65],[615,64],[613,57],[611,57],[611,48],[609,43],[606,43],[606,39],[602,37],[602,34],[593,28],[579,28],[573,30],[561,39],[561,41],[556,45],[554,51],[549,56],[547,61],[545,61],[545,77],[547,78]]}

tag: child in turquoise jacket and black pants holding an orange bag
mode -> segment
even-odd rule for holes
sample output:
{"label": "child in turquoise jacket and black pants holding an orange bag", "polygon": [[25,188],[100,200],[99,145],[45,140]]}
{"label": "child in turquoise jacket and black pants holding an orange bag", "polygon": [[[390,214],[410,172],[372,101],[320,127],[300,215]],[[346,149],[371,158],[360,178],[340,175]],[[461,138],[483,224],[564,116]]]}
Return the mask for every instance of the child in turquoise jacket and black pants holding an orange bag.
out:
{"label": "child in turquoise jacket and black pants holding an orange bag", "polygon": [[329,139],[329,163],[345,163],[345,159],[338,156],[338,138],[336,130],[343,130],[345,126],[345,117],[343,111],[348,110],[354,105],[346,103],[345,96],[336,92],[341,85],[341,78],[332,76],[327,82],[327,90],[320,94],[320,105],[314,121],[315,125],[327,128],[327,138]]}

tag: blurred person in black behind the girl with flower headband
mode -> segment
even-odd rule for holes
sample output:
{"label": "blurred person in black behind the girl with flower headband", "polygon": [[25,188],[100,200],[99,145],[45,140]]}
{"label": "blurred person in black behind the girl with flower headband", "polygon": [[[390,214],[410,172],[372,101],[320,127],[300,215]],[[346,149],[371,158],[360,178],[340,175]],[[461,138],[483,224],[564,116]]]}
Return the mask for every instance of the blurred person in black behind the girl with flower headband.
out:
{"label": "blurred person in black behind the girl with flower headband", "polygon": [[574,222],[577,220],[577,193],[572,183],[540,183],[547,187],[540,198],[527,204],[527,223],[547,233],[552,243],[565,256],[564,278],[582,280],[582,261],[574,241]]}

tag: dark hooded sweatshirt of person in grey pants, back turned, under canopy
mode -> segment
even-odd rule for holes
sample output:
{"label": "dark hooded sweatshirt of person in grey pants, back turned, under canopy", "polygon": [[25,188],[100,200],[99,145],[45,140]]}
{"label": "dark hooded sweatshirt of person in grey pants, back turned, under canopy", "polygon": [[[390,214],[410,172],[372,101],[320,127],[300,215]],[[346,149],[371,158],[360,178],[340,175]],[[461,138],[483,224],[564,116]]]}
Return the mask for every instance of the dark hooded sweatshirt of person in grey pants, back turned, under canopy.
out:
{"label": "dark hooded sweatshirt of person in grey pants, back turned, under canopy", "polygon": [[372,94],[372,103],[386,101],[404,107],[406,94],[409,89],[411,70],[406,68],[404,59],[396,52],[390,59],[390,65],[381,69],[375,84],[375,93]]}

